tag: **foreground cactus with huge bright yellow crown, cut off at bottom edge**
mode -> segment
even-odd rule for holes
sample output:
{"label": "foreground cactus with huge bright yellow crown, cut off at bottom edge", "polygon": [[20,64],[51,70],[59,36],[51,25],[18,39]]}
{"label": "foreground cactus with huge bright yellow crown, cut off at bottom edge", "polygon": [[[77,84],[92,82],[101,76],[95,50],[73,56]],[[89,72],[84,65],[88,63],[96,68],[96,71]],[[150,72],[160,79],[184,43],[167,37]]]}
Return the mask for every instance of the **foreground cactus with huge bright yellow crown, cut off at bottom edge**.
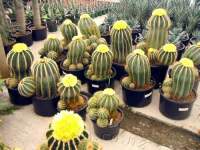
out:
{"label": "foreground cactus with huge bright yellow crown, cut off at bottom edge", "polygon": [[77,150],[79,143],[88,137],[84,121],[78,114],[61,111],[54,116],[46,132],[47,149]]}

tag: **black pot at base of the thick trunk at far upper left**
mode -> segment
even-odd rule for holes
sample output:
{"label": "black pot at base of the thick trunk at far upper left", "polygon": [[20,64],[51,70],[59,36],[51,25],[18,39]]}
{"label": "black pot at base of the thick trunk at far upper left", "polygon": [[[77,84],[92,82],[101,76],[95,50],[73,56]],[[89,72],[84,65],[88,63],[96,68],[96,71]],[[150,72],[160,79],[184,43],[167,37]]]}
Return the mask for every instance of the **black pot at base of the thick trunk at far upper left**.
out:
{"label": "black pot at base of the thick trunk at far upper left", "polygon": [[16,38],[18,43],[25,43],[27,46],[31,46],[33,44],[32,31],[30,29],[27,29],[25,35],[15,33],[13,34],[13,37]]}

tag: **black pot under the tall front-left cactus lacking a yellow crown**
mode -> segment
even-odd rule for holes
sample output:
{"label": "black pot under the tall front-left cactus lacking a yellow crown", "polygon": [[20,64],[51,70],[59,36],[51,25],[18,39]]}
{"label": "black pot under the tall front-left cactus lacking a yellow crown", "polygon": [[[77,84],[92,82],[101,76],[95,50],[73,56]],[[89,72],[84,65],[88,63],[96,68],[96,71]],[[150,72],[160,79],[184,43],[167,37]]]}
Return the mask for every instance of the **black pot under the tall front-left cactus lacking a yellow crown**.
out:
{"label": "black pot under the tall front-left cactus lacking a yellow crown", "polygon": [[34,96],[32,98],[34,111],[40,116],[53,116],[57,113],[57,103],[59,97],[52,99]]}

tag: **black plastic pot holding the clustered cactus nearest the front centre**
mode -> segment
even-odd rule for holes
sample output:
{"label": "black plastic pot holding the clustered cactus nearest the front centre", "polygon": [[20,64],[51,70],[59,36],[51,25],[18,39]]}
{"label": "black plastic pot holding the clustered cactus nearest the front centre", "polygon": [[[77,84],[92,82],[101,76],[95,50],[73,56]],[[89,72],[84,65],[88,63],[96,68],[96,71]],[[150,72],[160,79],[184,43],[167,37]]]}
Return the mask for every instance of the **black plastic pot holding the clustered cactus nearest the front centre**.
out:
{"label": "black plastic pot holding the clustered cactus nearest the front centre", "polygon": [[93,127],[94,127],[94,132],[99,138],[104,139],[104,140],[111,140],[118,135],[119,129],[120,129],[120,123],[122,122],[122,120],[124,118],[123,111],[121,109],[118,109],[118,111],[122,115],[121,120],[119,121],[118,124],[108,126],[105,128],[101,128],[101,127],[97,126],[96,121],[92,121]]}

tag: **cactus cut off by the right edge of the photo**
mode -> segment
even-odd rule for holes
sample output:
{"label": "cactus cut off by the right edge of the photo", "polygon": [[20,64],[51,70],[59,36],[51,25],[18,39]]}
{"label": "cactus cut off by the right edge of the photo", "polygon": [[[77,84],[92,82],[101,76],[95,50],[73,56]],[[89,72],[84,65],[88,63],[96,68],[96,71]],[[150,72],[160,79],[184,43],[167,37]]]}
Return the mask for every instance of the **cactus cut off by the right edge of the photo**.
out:
{"label": "cactus cut off by the right edge of the photo", "polygon": [[200,43],[190,46],[183,54],[182,57],[191,59],[195,66],[200,65]]}

